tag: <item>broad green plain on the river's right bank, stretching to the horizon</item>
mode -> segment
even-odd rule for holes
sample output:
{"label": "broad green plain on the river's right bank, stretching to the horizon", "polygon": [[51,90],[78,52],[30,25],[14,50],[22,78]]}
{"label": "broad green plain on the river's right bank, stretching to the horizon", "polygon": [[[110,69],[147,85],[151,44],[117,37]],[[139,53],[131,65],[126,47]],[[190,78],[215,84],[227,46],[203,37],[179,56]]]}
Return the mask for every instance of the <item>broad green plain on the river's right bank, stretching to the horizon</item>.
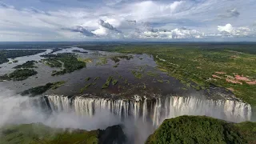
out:
{"label": "broad green plain on the river's right bank, stretching to the horizon", "polygon": [[[239,47],[241,46],[241,47]],[[213,84],[231,88],[237,98],[256,106],[256,85],[246,82],[227,82],[235,74],[256,80],[256,49],[246,45],[143,45],[116,46],[108,49],[125,54],[149,54],[154,57],[158,69],[168,75],[191,83],[197,90]],[[216,74],[225,72],[226,74]],[[136,74],[136,73],[134,73]],[[213,74],[220,78],[213,78]]]}

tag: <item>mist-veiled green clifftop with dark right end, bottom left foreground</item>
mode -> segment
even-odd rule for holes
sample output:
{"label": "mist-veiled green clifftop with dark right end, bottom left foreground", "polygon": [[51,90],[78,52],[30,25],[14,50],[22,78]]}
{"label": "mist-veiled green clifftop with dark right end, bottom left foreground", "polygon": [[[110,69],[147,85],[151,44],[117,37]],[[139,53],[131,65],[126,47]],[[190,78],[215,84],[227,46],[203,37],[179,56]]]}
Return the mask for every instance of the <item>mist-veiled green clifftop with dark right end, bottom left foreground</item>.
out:
{"label": "mist-veiled green clifftop with dark right end, bottom left foreground", "polygon": [[110,126],[106,130],[56,129],[42,124],[6,126],[0,129],[0,143],[84,143],[115,144],[125,143],[126,136],[121,126]]}

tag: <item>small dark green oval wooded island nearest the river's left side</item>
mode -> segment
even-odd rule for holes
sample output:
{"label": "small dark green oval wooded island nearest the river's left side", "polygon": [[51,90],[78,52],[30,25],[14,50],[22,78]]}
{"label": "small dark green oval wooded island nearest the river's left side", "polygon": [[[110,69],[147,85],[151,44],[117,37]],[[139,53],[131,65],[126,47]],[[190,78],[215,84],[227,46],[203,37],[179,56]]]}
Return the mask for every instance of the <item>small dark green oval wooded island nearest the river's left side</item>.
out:
{"label": "small dark green oval wooded island nearest the river's left side", "polygon": [[14,80],[14,81],[22,81],[22,80],[25,80],[26,78],[29,78],[30,76],[33,76],[35,74],[38,74],[38,72],[35,70],[30,70],[30,69],[14,70],[14,72],[12,72],[8,75],[8,79]]}

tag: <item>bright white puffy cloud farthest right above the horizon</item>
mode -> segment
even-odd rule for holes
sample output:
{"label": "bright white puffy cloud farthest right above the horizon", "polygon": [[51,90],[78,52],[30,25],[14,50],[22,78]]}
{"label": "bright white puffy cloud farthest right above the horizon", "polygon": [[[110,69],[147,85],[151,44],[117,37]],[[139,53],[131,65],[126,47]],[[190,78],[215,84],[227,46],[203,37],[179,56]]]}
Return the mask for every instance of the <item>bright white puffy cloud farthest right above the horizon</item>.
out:
{"label": "bright white puffy cloud farthest right above the horizon", "polygon": [[234,27],[230,23],[218,26],[218,31],[224,36],[248,36],[252,33],[248,27]]}

